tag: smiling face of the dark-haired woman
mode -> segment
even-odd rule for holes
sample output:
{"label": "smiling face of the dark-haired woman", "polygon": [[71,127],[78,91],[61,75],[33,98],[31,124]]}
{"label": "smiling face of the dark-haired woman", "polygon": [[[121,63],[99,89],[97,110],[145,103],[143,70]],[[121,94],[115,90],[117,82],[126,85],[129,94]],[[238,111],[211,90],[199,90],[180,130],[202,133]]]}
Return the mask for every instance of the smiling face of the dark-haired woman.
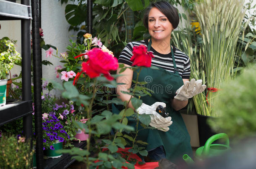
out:
{"label": "smiling face of the dark-haired woman", "polygon": [[149,34],[154,40],[171,38],[172,24],[159,9],[153,7],[149,11]]}

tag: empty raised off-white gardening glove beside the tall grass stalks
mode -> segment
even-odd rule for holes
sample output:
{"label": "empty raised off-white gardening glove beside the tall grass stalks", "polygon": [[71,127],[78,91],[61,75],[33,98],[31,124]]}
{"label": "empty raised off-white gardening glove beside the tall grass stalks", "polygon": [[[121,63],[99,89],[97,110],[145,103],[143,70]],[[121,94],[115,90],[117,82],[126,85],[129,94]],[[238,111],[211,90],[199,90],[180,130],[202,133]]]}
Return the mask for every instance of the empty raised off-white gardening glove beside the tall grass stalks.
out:
{"label": "empty raised off-white gardening glove beside the tall grass stalks", "polygon": [[176,91],[176,100],[185,101],[188,98],[195,96],[196,94],[202,93],[206,88],[206,85],[202,85],[202,80],[195,80],[194,78],[191,81],[185,81],[184,85],[181,86]]}

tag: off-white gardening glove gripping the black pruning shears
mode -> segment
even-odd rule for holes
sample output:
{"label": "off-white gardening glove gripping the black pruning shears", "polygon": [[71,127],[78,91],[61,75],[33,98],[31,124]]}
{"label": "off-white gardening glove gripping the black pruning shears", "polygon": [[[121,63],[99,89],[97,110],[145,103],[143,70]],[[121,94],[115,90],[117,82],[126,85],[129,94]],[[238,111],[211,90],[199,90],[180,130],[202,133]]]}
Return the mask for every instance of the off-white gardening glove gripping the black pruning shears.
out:
{"label": "off-white gardening glove gripping the black pruning shears", "polygon": [[[163,102],[156,102],[151,106],[142,103],[139,108],[136,109],[138,114],[150,114],[151,122],[149,123],[150,126],[157,128],[161,131],[168,131],[169,127],[172,124],[172,118],[169,117],[162,117],[160,114],[156,112],[157,106],[166,107],[166,104]],[[162,128],[162,129],[161,129]]]}

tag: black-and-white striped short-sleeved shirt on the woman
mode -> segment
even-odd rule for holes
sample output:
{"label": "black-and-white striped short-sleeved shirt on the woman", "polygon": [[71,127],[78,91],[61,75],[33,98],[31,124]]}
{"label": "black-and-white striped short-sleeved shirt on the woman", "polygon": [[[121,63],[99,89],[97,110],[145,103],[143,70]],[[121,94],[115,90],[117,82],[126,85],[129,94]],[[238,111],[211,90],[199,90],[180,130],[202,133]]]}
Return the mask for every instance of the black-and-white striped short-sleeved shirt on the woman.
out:
{"label": "black-and-white striped short-sleeved shirt on the woman", "polygon": [[[145,45],[147,46],[149,44],[148,40],[141,40],[141,41],[135,41],[135,42],[130,42],[128,43],[123,51],[121,52],[118,62],[119,63],[124,63],[129,66],[133,64],[131,61],[131,57],[133,55],[133,47],[134,46],[139,46],[139,45]],[[173,46],[173,53],[174,53],[174,58],[175,58],[175,63],[176,67],[179,70],[179,75],[183,79],[189,79],[190,76],[190,61],[188,58],[188,55],[180,51],[178,48],[176,48],[174,45]],[[153,66],[158,66],[160,68],[165,69],[166,71],[170,71],[174,73],[174,66],[172,62],[172,54],[161,54],[158,53],[154,48],[150,48],[150,51],[153,53],[154,58],[152,58],[152,65]]]}

